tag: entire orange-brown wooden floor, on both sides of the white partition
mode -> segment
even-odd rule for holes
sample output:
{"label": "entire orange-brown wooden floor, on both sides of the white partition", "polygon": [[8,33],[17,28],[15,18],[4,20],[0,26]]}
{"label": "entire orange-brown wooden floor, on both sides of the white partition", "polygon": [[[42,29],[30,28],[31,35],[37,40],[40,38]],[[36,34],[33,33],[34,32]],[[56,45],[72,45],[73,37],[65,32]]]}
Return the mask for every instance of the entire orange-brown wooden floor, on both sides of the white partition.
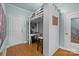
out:
{"label": "entire orange-brown wooden floor, on both sides of the white partition", "polygon": [[[37,44],[19,44],[7,49],[7,56],[41,56],[41,51],[37,51]],[[79,56],[67,50],[59,48],[53,56]]]}

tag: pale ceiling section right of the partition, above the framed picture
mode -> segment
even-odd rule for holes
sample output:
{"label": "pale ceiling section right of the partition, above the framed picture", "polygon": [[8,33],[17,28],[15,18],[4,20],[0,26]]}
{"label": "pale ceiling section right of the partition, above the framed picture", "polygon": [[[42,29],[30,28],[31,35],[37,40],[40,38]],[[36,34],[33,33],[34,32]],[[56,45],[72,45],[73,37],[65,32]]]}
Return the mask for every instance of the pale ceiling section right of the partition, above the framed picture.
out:
{"label": "pale ceiling section right of the partition, above the framed picture", "polygon": [[62,13],[79,10],[79,3],[55,3],[55,5]]}

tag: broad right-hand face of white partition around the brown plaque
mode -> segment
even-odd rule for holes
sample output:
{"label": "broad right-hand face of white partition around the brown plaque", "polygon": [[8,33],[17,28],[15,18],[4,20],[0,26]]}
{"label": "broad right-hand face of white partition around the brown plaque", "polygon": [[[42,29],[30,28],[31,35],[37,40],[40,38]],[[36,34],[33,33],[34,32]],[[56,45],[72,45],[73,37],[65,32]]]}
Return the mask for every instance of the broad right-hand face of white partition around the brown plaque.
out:
{"label": "broad right-hand face of white partition around the brown plaque", "polygon": [[50,5],[49,13],[49,55],[52,55],[59,48],[59,21],[57,26],[52,25],[52,16],[59,19],[59,12],[54,5]]}

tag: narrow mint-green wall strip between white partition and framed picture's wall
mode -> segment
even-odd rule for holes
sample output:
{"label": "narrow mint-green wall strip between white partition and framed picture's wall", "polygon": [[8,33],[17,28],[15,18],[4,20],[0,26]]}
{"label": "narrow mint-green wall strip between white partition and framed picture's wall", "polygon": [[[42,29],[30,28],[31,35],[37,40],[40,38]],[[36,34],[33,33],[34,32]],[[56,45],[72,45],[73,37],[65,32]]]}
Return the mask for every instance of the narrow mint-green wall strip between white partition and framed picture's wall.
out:
{"label": "narrow mint-green wall strip between white partition and framed picture's wall", "polygon": [[62,13],[59,17],[59,45],[64,47],[64,16]]}

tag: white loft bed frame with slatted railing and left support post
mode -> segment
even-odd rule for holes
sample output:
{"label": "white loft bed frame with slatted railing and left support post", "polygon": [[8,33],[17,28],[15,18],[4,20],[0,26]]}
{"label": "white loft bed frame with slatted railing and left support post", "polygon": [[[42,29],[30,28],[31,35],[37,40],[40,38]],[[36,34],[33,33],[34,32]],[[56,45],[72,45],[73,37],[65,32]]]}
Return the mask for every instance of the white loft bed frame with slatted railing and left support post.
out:
{"label": "white loft bed frame with slatted railing and left support post", "polygon": [[38,19],[38,18],[42,18],[43,17],[43,8],[39,8],[37,11],[33,12],[33,14],[31,15],[30,17],[30,21],[29,21],[29,44],[31,43],[31,37],[32,36],[36,36],[37,34],[36,33],[31,33],[31,22],[35,19]]}

